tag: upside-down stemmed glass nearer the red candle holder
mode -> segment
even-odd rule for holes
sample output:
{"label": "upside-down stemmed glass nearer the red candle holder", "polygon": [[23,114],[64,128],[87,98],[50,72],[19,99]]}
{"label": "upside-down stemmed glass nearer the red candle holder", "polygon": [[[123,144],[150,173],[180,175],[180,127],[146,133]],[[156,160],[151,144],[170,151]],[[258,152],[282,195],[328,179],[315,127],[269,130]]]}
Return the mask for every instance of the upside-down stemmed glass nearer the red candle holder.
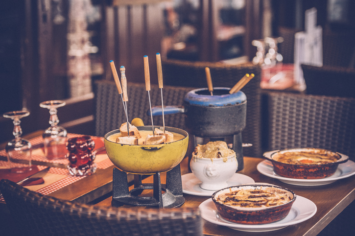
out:
{"label": "upside-down stemmed glass nearer the red candle holder", "polygon": [[59,119],[57,116],[57,108],[66,104],[62,100],[48,100],[40,103],[40,107],[49,109],[49,124],[50,127],[43,133],[43,141],[45,146],[45,156],[47,159],[65,158],[67,153],[67,130],[58,126]]}

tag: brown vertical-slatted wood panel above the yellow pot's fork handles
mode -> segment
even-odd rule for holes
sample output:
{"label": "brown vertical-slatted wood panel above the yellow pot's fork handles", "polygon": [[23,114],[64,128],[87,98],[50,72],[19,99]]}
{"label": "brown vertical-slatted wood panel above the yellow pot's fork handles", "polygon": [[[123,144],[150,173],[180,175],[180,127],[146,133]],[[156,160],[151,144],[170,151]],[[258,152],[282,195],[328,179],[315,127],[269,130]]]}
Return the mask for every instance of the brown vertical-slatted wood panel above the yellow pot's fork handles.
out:
{"label": "brown vertical-slatted wood panel above the yellow pot's fork handles", "polygon": [[148,55],[151,82],[157,84],[155,54],[161,50],[164,28],[161,4],[107,7],[105,17],[106,79],[113,79],[108,62],[114,60],[118,74],[119,67],[125,67],[128,82],[143,83],[143,56]]}

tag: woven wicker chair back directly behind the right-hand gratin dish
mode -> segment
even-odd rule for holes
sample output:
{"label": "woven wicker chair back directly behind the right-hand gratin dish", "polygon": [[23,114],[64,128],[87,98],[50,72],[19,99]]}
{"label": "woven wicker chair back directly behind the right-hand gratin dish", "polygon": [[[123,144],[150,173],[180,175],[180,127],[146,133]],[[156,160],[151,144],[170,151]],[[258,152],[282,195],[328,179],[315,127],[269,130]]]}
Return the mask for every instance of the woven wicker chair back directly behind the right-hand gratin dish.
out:
{"label": "woven wicker chair back directly behind the right-hand gratin dish", "polygon": [[355,159],[355,99],[268,94],[268,150],[317,147]]}

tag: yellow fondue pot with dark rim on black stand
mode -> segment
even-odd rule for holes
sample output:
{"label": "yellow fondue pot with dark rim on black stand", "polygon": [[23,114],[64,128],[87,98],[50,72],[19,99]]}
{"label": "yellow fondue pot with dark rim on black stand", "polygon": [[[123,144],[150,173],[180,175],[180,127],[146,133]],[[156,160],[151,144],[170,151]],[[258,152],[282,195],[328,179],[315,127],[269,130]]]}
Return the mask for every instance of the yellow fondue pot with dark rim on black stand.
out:
{"label": "yellow fondue pot with dark rim on black stand", "polygon": [[[138,126],[138,130],[152,130],[152,126]],[[161,128],[154,126],[154,128]],[[111,142],[107,138],[119,133],[119,129],[104,136],[106,153],[119,169],[132,174],[155,174],[171,170],[184,159],[189,145],[185,130],[165,127],[166,131],[185,136],[182,140],[155,145],[129,145]]]}

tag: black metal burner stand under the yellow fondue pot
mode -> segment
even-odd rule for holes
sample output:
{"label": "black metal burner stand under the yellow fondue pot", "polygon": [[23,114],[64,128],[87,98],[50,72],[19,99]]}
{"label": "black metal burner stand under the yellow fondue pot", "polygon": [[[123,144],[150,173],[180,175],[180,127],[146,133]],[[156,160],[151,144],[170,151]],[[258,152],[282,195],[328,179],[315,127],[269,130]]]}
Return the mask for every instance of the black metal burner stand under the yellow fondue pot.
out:
{"label": "black metal burner stand under the yellow fondue pot", "polygon": [[[152,197],[139,196],[144,189],[153,189]],[[165,193],[162,194],[162,190]],[[127,173],[113,170],[113,192],[111,205],[147,206],[159,208],[180,207],[185,202],[180,165],[166,172],[166,184],[161,184],[160,172],[154,174],[153,184],[142,184],[142,175],[134,175],[134,189],[128,190]]]}

